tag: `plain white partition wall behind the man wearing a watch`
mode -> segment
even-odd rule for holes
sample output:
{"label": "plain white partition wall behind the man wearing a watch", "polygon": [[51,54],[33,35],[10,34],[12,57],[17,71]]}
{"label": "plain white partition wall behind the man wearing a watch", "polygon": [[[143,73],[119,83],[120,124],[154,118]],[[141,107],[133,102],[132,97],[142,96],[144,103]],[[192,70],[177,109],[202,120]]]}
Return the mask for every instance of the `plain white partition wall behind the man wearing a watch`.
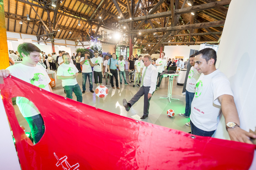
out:
{"label": "plain white partition wall behind the man wearing a watch", "polygon": [[[246,0],[249,6],[241,6],[240,0],[232,0],[228,8],[218,53],[217,68],[228,77],[242,129],[255,131],[255,35],[252,34],[256,23],[255,0]],[[229,139],[224,117],[218,125],[216,138]],[[256,169],[256,158],[250,170]],[[228,154],[227,154],[228,155]],[[234,155],[235,156],[235,155]]]}

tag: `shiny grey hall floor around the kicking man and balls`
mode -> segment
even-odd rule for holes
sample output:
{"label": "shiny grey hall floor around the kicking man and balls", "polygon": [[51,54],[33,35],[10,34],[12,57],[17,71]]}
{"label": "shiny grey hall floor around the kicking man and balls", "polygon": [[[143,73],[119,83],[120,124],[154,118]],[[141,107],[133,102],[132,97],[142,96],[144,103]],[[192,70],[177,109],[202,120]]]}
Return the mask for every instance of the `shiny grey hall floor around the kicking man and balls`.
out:
{"label": "shiny grey hall floor around the kicking man and balls", "polygon": [[[127,75],[126,79],[128,80],[127,71],[126,71],[126,75]],[[177,78],[178,77],[174,77],[172,97],[178,98],[180,100],[171,100],[171,103],[169,103],[169,100],[159,98],[159,97],[167,97],[169,79],[163,78],[160,89],[156,90],[151,98],[150,108],[149,108],[149,117],[141,121],[146,121],[149,123],[165,126],[172,129],[182,130],[185,132],[190,131],[190,127],[185,125],[185,123],[189,121],[189,118],[185,118],[178,115],[179,113],[185,112],[186,102],[185,102],[185,95],[183,96],[181,94],[183,86],[177,85]],[[77,81],[78,81],[78,84],[80,85],[80,88],[82,89],[81,73],[79,73]],[[93,82],[93,90],[94,90],[96,88],[96,84],[94,84],[94,79],[92,82]],[[103,80],[103,85],[105,85],[105,79]],[[132,96],[134,96],[138,91],[139,87],[135,86],[135,88],[133,88],[132,85],[133,84],[124,85],[124,80],[123,80],[123,85],[119,84],[120,90],[118,90],[118,89],[112,89],[110,82],[108,82],[108,85],[105,85],[109,90],[108,95],[105,98],[99,98],[96,96],[95,93],[91,93],[89,91],[89,82],[87,79],[86,91],[82,95],[83,103],[86,103],[93,107],[100,108],[118,115],[129,117],[129,118],[131,118],[131,116],[134,116],[136,114],[141,117],[143,115],[143,97],[141,97],[140,100],[133,105],[133,107],[130,109],[129,112],[125,110],[122,104],[123,98],[129,101],[132,98]],[[56,86],[52,89],[55,94],[66,96],[66,94],[64,93],[64,89],[61,85],[61,80],[57,79]],[[73,100],[76,101],[76,96],[74,93],[73,93]],[[16,116],[20,125],[26,128],[26,132],[30,131],[29,125],[26,119],[24,119],[21,113],[19,112],[17,105],[14,105],[14,108],[15,108]],[[175,111],[174,117],[167,116],[168,109],[173,109]]]}

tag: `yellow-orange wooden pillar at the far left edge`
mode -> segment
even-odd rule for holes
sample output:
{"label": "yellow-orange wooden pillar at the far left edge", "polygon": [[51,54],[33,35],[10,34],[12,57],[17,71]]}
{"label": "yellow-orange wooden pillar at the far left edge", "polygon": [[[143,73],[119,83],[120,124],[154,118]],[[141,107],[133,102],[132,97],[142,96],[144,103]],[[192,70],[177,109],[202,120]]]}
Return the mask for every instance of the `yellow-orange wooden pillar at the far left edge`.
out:
{"label": "yellow-orange wooden pillar at the far left edge", "polygon": [[[0,69],[6,69],[9,66],[9,52],[7,46],[7,35],[5,26],[4,2],[0,0]],[[13,50],[13,49],[12,49]]]}

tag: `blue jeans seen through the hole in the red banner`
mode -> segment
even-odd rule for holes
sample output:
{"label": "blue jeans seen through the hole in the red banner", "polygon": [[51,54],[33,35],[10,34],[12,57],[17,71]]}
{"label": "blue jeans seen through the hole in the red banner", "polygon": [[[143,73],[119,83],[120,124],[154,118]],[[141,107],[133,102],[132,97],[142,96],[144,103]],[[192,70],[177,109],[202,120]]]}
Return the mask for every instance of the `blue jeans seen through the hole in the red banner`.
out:
{"label": "blue jeans seen through the hole in the red banner", "polygon": [[27,117],[25,119],[29,123],[29,127],[31,130],[32,138],[34,139],[34,142],[35,143],[39,142],[44,133],[44,122],[41,114]]}

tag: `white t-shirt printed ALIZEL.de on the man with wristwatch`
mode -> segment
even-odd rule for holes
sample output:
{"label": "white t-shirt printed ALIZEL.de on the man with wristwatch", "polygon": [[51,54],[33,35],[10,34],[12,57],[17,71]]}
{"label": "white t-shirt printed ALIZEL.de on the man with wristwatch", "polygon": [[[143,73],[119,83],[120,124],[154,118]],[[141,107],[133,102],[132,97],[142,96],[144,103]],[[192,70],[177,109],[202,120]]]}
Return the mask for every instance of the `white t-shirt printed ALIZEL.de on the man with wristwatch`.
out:
{"label": "white t-shirt printed ALIZEL.de on the man with wristwatch", "polygon": [[225,74],[219,70],[211,74],[201,74],[196,84],[196,93],[191,104],[190,120],[205,131],[216,130],[221,103],[218,97],[233,92]]}

